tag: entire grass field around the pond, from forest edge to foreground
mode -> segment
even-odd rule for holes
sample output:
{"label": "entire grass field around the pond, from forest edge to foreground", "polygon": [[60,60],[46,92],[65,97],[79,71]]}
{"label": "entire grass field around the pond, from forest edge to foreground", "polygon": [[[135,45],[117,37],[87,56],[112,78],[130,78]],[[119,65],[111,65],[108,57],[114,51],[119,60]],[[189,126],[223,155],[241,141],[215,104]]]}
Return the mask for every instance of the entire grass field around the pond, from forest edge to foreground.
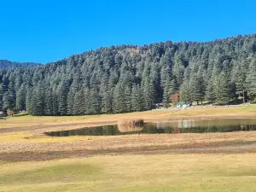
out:
{"label": "entire grass field around the pond, from forest edge to foreground", "polygon": [[0,191],[255,191],[256,131],[47,137],[174,119],[255,118],[256,106],[0,119]]}

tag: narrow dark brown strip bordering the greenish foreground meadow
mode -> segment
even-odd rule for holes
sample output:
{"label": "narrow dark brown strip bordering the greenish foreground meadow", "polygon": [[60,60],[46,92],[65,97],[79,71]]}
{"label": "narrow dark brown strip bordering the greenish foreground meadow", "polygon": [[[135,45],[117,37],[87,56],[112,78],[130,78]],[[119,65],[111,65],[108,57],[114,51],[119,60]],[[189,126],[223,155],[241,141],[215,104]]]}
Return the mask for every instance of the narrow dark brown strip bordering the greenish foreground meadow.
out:
{"label": "narrow dark brown strip bordering the greenish foreground meadow", "polygon": [[[218,144],[219,145],[219,144]],[[104,150],[74,150],[52,151],[47,153],[3,153],[0,160],[3,161],[31,161],[31,160],[55,160],[76,157],[90,157],[94,155],[121,155],[121,154],[247,154],[256,153],[256,143],[230,145],[223,147],[192,147],[170,148],[166,146],[143,147],[143,148],[116,148]]]}

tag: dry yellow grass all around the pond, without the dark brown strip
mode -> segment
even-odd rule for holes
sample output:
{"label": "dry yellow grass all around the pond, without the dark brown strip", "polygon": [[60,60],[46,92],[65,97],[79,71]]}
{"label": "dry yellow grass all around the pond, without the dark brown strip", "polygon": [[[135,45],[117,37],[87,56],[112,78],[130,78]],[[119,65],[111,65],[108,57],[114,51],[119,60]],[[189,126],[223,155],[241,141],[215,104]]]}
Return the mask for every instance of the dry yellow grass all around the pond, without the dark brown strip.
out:
{"label": "dry yellow grass all around the pond, without the dark brown strip", "polygon": [[[78,150],[118,150],[136,151],[143,148],[230,148],[234,144],[245,145],[249,151],[256,149],[253,141],[256,140],[256,133],[210,133],[210,134],[181,134],[181,135],[131,135],[113,137],[47,137],[44,131],[59,131],[75,129],[79,127],[110,124],[118,122],[119,119],[145,119],[149,121],[160,121],[164,119],[196,119],[215,117],[248,117],[256,114],[255,106],[236,107],[209,107],[190,108],[179,111],[153,110],[139,113],[124,113],[113,115],[91,115],[80,117],[33,117],[22,116],[9,118],[1,121],[0,128],[0,153],[49,153],[52,151],[78,151]],[[20,124],[20,128],[14,127]],[[5,127],[4,127],[5,126]],[[22,126],[26,130],[19,131]],[[36,128],[35,128],[36,127]],[[3,132],[1,130],[12,131]],[[125,131],[121,130],[121,131]],[[17,132],[19,131],[19,132]],[[220,143],[219,146],[217,143]],[[211,149],[212,150],[212,149]],[[228,149],[229,151],[231,149]],[[233,150],[233,149],[232,149]],[[206,150],[207,151],[207,150]],[[217,148],[218,151],[218,148]],[[244,148],[241,151],[246,151]],[[100,152],[102,153],[102,152]],[[181,152],[185,153],[185,152]]]}

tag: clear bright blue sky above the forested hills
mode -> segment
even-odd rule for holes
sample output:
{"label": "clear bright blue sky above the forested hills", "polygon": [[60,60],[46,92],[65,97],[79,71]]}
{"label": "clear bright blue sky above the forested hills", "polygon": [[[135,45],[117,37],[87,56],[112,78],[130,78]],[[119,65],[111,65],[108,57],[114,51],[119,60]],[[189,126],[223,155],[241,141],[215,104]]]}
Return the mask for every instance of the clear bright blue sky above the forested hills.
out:
{"label": "clear bright blue sky above the forested hills", "polygon": [[1,0],[0,59],[57,61],[117,44],[256,32],[255,0]]}

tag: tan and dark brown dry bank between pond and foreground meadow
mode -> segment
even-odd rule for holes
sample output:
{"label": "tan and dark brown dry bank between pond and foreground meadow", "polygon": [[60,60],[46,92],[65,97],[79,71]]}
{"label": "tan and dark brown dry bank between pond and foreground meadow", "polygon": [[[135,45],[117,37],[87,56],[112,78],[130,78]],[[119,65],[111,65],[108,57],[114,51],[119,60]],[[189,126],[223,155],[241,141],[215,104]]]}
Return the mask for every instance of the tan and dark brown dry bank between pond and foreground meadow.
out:
{"label": "tan and dark brown dry bank between pond and foreground meadow", "polygon": [[256,131],[102,137],[72,143],[2,143],[0,160],[53,160],[100,154],[256,153]]}

